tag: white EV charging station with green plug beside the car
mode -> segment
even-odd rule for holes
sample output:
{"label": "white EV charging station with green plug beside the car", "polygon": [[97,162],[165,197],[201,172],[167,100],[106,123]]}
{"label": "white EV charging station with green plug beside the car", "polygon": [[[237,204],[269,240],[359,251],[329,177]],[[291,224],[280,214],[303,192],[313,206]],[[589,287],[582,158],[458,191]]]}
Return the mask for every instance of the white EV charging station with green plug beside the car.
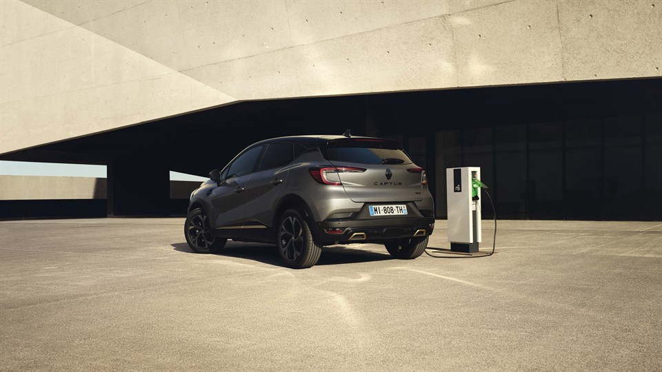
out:
{"label": "white EV charging station with green plug beside the car", "polygon": [[448,241],[450,250],[474,253],[479,251],[481,231],[480,167],[446,169],[446,201],[448,202]]}

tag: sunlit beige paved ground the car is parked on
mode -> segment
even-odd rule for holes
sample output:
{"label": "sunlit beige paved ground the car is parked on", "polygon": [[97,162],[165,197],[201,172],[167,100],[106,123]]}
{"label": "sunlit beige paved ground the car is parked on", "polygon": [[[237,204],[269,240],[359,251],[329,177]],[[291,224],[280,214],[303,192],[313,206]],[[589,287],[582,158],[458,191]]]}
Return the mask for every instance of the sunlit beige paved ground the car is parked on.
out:
{"label": "sunlit beige paved ground the car is parked on", "polygon": [[503,221],[488,258],[352,245],[299,271],[192,254],[182,225],[0,223],[0,370],[662,369],[659,223]]}

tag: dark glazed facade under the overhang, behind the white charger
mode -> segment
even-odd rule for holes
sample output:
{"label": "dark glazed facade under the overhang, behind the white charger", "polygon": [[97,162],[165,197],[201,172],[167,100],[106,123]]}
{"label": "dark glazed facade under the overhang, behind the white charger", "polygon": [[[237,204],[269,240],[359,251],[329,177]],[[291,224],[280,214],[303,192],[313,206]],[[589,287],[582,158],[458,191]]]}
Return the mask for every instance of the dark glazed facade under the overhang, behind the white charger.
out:
{"label": "dark glazed facade under the overhang, behind the white charger", "polygon": [[[475,125],[420,138],[404,143],[434,169],[439,218],[446,218],[445,169],[476,166],[498,218],[662,219],[661,115]],[[492,218],[483,202],[483,216]]]}

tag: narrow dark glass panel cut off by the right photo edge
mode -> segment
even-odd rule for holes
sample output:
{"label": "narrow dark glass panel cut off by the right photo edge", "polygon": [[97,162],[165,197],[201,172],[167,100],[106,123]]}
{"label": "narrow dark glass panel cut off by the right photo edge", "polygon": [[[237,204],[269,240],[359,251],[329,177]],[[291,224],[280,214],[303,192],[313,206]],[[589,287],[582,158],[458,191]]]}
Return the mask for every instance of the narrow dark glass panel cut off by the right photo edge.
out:
{"label": "narrow dark glass panel cut off by the right photo edge", "polygon": [[662,115],[645,117],[644,219],[662,220]]}

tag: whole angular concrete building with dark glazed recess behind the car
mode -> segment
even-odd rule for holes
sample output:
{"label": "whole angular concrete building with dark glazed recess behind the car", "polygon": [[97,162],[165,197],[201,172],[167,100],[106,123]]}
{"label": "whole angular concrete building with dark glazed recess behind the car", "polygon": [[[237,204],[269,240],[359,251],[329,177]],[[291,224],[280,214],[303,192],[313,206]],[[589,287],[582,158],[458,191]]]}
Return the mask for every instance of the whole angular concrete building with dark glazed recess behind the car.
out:
{"label": "whole angular concrete building with dark glazed recess behind the car", "polygon": [[659,220],[661,68],[658,0],[1,1],[0,160],[106,164],[108,214],[171,214],[169,170],[352,128],[442,218],[474,165],[501,218]]}

